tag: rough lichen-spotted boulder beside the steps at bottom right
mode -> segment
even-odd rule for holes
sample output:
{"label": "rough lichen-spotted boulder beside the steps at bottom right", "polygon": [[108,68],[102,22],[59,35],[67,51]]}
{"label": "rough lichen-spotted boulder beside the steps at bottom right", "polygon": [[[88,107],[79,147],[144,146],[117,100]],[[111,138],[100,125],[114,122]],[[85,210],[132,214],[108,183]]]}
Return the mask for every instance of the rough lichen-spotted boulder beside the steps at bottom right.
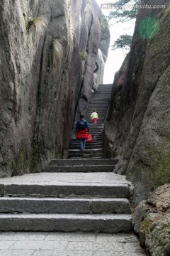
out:
{"label": "rough lichen-spotted boulder beside the steps at bottom right", "polygon": [[170,255],[170,184],[155,191],[135,209],[135,231],[153,256]]}

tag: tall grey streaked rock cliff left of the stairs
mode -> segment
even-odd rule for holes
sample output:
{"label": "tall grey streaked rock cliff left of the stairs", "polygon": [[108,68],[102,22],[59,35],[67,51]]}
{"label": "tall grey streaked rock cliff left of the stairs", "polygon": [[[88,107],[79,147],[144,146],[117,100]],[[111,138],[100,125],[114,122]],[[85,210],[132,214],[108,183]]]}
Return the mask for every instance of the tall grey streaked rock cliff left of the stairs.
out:
{"label": "tall grey streaked rock cliff left of the stairs", "polygon": [[109,33],[103,37],[94,0],[1,0],[0,14],[3,177],[41,171],[50,159],[66,155]]}

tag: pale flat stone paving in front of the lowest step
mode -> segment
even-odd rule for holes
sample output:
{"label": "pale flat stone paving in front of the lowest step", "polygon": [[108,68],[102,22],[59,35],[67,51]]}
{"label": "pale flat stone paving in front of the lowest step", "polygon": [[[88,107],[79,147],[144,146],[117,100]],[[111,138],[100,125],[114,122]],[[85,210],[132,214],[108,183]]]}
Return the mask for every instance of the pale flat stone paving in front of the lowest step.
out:
{"label": "pale flat stone paving in front of the lowest step", "polygon": [[0,241],[1,256],[146,255],[133,234],[19,232],[0,233]]}

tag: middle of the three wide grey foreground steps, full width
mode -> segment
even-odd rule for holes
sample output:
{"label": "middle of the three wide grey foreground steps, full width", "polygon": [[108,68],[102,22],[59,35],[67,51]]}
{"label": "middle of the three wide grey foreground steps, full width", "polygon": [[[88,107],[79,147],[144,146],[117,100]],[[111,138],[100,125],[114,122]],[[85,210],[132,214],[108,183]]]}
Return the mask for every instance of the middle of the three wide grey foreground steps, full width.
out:
{"label": "middle of the three wide grey foreground steps, full width", "polygon": [[0,213],[130,213],[127,198],[0,198]]}

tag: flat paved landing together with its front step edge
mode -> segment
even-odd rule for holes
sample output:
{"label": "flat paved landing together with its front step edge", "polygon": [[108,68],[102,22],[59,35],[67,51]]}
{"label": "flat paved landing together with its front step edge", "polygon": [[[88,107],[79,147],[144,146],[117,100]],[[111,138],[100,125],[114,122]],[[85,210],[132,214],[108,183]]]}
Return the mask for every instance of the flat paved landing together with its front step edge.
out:
{"label": "flat paved landing together with its front step edge", "polygon": [[6,195],[18,196],[130,196],[125,176],[106,173],[41,173],[1,178]]}

